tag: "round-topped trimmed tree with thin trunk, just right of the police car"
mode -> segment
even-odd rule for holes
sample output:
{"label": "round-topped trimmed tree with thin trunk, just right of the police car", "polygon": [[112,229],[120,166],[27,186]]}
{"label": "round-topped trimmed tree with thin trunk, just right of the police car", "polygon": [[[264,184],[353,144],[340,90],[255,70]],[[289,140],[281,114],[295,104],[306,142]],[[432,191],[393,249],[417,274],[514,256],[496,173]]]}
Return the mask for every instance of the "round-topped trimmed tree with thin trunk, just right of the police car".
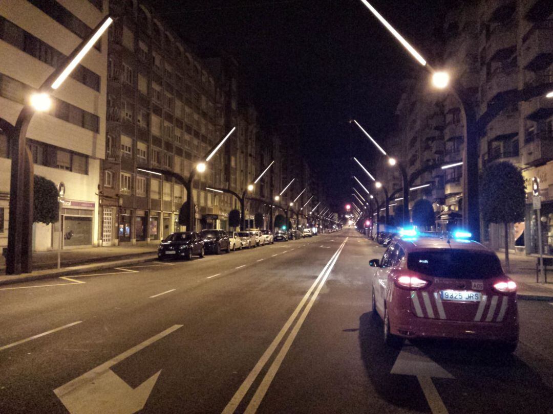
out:
{"label": "round-topped trimmed tree with thin trunk, just right of the police car", "polygon": [[508,161],[488,164],[480,184],[480,211],[489,223],[503,223],[505,267],[509,271],[509,224],[524,220],[526,189],[520,169]]}

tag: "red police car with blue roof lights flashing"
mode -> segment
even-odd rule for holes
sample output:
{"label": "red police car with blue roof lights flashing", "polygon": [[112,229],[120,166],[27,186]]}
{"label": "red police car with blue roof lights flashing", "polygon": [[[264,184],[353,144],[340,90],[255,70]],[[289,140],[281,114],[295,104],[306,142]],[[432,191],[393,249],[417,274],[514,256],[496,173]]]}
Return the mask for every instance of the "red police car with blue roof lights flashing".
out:
{"label": "red police car with blue roof lights flashing", "polygon": [[507,352],[518,344],[517,285],[497,255],[469,233],[420,237],[414,230],[390,243],[375,267],[372,310],[384,341],[404,338],[478,339]]}

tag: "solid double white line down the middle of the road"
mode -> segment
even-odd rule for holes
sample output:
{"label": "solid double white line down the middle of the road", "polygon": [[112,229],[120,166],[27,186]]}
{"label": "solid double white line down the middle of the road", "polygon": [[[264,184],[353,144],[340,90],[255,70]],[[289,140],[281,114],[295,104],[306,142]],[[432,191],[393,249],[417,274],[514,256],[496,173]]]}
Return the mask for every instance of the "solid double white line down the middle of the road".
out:
{"label": "solid double white line down the middle of the road", "polygon": [[[263,380],[261,381],[257,391],[255,391],[254,396],[252,397],[252,400],[249,402],[248,407],[246,408],[246,413],[253,413],[257,411],[257,408],[259,407],[259,404],[261,404],[261,401],[263,400],[263,397],[265,396],[265,393],[269,389],[269,386],[271,382],[273,381],[274,376],[276,375],[276,371],[278,371],[284,357],[286,356],[286,353],[288,353],[288,350],[290,349],[290,346],[292,342],[294,342],[294,339],[296,335],[298,335],[298,332],[301,328],[302,323],[305,321],[307,314],[309,314],[309,311],[311,310],[311,307],[313,306],[315,299],[317,299],[317,296],[319,295],[322,286],[325,284],[326,279],[328,278],[328,275],[330,274],[332,268],[334,267],[336,261],[338,260],[338,256],[340,256],[340,253],[342,252],[342,249],[344,245],[346,244],[348,240],[348,237],[346,237],[346,240],[343,241],[343,243],[340,245],[338,250],[332,255],[330,260],[326,263],[325,267],[322,269],[321,273],[315,279],[315,282],[311,285],[309,290],[307,290],[307,293],[305,296],[301,299],[299,305],[296,307],[292,315],[290,315],[288,321],[284,324],[284,326],[281,328],[280,332],[276,337],[273,339],[273,342],[269,345],[267,350],[263,353],[257,364],[255,364],[255,367],[253,367],[252,371],[248,374],[240,388],[236,391],[234,396],[232,397],[231,401],[228,402],[225,409],[222,411],[223,414],[231,414],[234,411],[236,411],[236,408],[240,404],[240,402],[243,400],[244,396],[246,396],[247,392],[251,388],[253,382],[259,375],[260,371],[263,369],[265,364],[267,364],[269,358],[273,355],[273,353],[276,350],[276,347],[280,344],[280,342],[283,340],[284,336],[286,335],[286,332],[288,332],[290,326],[292,323],[296,320],[296,316],[300,313],[301,309],[304,307],[305,302],[310,298],[311,293],[315,290],[315,293],[311,296],[311,299],[309,300],[309,303],[307,306],[305,306],[305,309],[303,310],[302,314],[300,315],[299,319],[296,321],[294,327],[292,328],[290,335],[288,338],[286,338],[286,341],[284,342],[283,347],[280,349],[280,352],[278,355],[276,355],[273,363],[270,365],[267,374],[265,374]],[[318,286],[317,286],[318,285]]]}

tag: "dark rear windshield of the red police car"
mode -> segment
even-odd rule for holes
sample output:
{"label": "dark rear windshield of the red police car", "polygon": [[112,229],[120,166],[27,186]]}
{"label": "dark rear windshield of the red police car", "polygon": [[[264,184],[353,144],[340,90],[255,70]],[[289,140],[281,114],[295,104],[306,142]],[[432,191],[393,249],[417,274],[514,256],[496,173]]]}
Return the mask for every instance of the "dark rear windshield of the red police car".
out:
{"label": "dark rear windshield of the red police car", "polygon": [[452,279],[487,279],[503,273],[495,254],[460,249],[409,253],[407,268],[427,276]]}

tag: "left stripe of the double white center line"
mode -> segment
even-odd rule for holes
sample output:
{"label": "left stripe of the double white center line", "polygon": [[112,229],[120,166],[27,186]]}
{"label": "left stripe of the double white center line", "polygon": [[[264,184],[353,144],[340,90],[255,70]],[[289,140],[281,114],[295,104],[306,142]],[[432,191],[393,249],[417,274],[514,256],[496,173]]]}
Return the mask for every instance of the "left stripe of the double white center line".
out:
{"label": "left stripe of the double white center line", "polygon": [[[347,238],[346,238],[346,241],[347,241]],[[286,332],[288,332],[290,326],[292,325],[292,323],[296,319],[296,316],[298,316],[298,314],[300,313],[300,310],[302,309],[302,307],[304,307],[305,302],[307,301],[307,299],[309,299],[309,296],[311,295],[312,291],[315,289],[315,286],[320,282],[321,278],[323,277],[323,275],[326,272],[326,269],[328,268],[328,266],[330,266],[332,260],[336,257],[336,254],[338,254],[338,251],[340,251],[340,249],[343,247],[343,245],[345,245],[346,241],[342,243],[340,248],[338,248],[338,250],[332,255],[330,260],[326,263],[325,267],[321,270],[321,273],[319,274],[319,276],[317,276],[317,278],[315,279],[315,282],[313,282],[313,284],[311,285],[309,290],[307,290],[306,294],[301,299],[298,306],[296,306],[296,309],[294,310],[294,312],[292,312],[292,314],[288,318],[288,321],[286,321],[286,323],[284,323],[284,326],[281,328],[278,335],[276,335],[276,337],[273,339],[273,342],[271,342],[271,344],[265,350],[265,352],[263,353],[261,358],[259,358],[257,364],[255,364],[252,371],[248,374],[248,376],[246,377],[246,379],[244,380],[242,385],[238,388],[236,393],[234,393],[231,401],[228,402],[227,406],[222,411],[222,414],[232,414],[234,411],[236,411],[236,408],[238,407],[240,402],[243,400],[244,396],[246,396],[248,390],[251,388],[253,382],[255,381],[257,376],[259,375],[260,371],[263,369],[264,365],[267,364],[269,358],[275,352],[276,347],[278,347],[278,345],[282,341],[284,335],[286,334]]]}

